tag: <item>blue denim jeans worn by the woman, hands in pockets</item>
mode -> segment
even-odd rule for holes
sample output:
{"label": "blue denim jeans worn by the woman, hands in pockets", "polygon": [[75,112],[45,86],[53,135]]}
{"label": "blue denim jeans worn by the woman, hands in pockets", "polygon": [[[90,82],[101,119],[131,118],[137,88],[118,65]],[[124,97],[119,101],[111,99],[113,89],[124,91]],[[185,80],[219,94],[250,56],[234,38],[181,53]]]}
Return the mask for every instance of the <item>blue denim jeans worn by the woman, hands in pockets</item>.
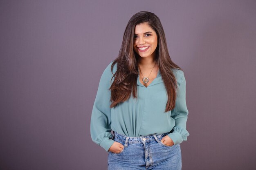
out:
{"label": "blue denim jeans worn by the woman, hands in pockets", "polygon": [[126,137],[114,131],[113,140],[124,149],[108,152],[108,170],[181,170],[180,144],[164,145],[161,139],[167,134]]}

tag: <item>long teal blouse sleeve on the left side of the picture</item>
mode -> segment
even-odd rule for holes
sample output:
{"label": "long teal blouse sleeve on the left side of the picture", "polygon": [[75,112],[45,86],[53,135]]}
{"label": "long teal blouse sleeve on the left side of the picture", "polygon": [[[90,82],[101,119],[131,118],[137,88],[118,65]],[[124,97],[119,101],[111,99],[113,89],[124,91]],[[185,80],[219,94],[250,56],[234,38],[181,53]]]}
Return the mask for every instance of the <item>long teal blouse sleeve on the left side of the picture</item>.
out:
{"label": "long teal blouse sleeve on the left side of the picture", "polygon": [[[90,132],[92,141],[103,147],[107,152],[115,142],[112,140],[111,132],[111,108],[110,95],[108,90],[111,85],[112,73],[110,70],[112,62],[103,71],[99,82],[97,95],[92,108]],[[114,79],[114,78],[113,78]]]}

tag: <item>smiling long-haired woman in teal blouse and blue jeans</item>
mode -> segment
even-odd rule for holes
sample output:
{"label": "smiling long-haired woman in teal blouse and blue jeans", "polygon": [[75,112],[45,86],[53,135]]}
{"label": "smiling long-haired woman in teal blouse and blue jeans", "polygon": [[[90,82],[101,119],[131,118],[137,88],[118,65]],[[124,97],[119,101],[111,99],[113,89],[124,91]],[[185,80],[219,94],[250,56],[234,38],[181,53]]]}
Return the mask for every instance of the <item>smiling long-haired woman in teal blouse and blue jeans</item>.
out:
{"label": "smiling long-haired woman in teal blouse and blue jeans", "polygon": [[189,136],[185,93],[184,72],[168,54],[159,18],[136,13],[92,109],[92,141],[108,152],[108,170],[180,170],[180,143]]}

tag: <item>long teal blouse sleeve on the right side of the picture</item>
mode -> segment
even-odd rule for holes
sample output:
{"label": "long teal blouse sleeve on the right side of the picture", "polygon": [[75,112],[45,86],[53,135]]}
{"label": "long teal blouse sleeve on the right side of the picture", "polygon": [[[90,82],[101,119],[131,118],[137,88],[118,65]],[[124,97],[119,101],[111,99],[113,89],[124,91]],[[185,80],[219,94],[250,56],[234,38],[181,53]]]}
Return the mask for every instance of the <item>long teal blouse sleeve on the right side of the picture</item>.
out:
{"label": "long teal blouse sleeve on the right side of the picture", "polygon": [[171,117],[175,120],[175,126],[173,132],[168,134],[174,144],[180,144],[182,141],[186,141],[189,136],[189,132],[186,130],[186,121],[189,114],[186,107],[186,80],[183,71],[177,72],[177,74],[181,75],[177,76],[181,77],[181,79],[177,80],[180,81],[180,85],[178,86],[175,108],[171,110]]}

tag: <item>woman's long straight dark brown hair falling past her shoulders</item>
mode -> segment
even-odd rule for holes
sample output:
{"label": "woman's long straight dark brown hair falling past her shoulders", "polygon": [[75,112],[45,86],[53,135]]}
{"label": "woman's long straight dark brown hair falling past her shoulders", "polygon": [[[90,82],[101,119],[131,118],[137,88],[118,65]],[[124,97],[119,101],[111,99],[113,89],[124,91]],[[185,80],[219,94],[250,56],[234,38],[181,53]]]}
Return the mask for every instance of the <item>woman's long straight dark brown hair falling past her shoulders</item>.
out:
{"label": "woman's long straight dark brown hair falling past her shoulders", "polygon": [[111,90],[110,101],[112,102],[110,107],[112,108],[120,102],[125,102],[130,98],[131,93],[133,97],[137,98],[137,77],[139,74],[137,61],[140,56],[133,50],[133,40],[135,26],[141,23],[147,23],[157,33],[155,60],[167,91],[168,100],[165,109],[165,112],[167,112],[175,107],[176,100],[177,81],[172,68],[182,69],[171,60],[166,45],[164,29],[159,18],[148,11],[140,11],[133,15],[124,31],[119,55],[111,65],[113,73],[114,65],[117,63],[117,71],[113,75],[115,79],[109,88]]}

